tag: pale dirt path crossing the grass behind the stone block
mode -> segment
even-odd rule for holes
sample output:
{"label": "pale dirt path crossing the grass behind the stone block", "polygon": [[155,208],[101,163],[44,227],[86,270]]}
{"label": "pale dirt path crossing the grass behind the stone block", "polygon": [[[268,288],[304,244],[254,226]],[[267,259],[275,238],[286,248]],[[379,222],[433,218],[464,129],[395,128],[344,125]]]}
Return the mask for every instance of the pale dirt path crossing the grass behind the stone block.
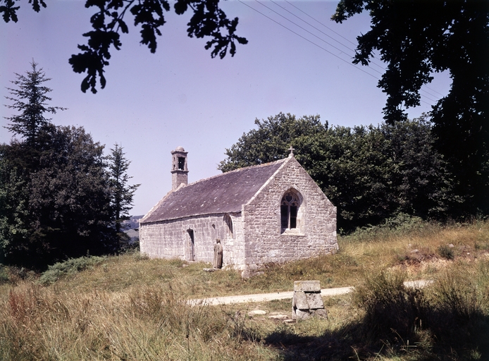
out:
{"label": "pale dirt path crossing the grass behind the stone block", "polygon": [[[422,288],[433,281],[418,280],[407,281],[404,285],[407,287]],[[334,295],[343,295],[345,293],[352,292],[353,287],[340,287],[340,288],[323,288],[321,290],[321,296],[328,297]],[[233,303],[247,303],[247,302],[266,302],[271,300],[292,300],[294,295],[293,291],[277,292],[277,293],[257,293],[256,295],[239,295],[239,296],[225,296],[225,297],[211,297],[211,298],[199,298],[196,300],[188,300],[189,305],[230,305]]]}

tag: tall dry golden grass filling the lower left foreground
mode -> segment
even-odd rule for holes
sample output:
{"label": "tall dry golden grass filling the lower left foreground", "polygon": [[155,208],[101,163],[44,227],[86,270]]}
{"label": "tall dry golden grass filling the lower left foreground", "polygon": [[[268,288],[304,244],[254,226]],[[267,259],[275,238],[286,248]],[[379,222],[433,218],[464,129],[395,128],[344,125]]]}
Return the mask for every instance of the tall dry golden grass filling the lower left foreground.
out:
{"label": "tall dry golden grass filling the lower left foreground", "polygon": [[175,289],[80,295],[26,283],[0,305],[0,360],[269,360],[253,332]]}

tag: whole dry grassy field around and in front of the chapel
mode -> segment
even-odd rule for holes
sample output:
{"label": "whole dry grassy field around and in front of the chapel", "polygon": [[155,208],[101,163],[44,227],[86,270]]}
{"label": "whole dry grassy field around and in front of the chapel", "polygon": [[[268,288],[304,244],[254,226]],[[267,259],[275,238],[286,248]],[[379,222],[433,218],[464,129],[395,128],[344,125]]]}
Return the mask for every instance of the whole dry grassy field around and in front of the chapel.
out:
{"label": "whole dry grassy field around and in front of the chapel", "polygon": [[[489,360],[489,223],[357,231],[340,252],[241,279],[138,253],[83,257],[42,276],[0,268],[0,360]],[[355,286],[328,319],[297,324],[290,300],[189,307],[188,298]],[[402,282],[431,279],[423,290]],[[249,310],[268,314],[248,317]]]}

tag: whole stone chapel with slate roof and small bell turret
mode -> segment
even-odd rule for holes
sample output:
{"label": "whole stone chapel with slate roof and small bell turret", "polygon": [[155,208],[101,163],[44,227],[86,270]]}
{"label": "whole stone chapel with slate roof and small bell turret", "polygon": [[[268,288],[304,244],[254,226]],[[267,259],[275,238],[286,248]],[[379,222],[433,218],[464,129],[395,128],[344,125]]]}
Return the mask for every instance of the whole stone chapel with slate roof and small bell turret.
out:
{"label": "whole stone chapel with slate roof and small bell turret", "polygon": [[140,221],[149,257],[212,262],[247,276],[269,262],[338,250],[336,207],[292,152],[289,157],[187,184],[187,152],[171,152],[172,190]]}

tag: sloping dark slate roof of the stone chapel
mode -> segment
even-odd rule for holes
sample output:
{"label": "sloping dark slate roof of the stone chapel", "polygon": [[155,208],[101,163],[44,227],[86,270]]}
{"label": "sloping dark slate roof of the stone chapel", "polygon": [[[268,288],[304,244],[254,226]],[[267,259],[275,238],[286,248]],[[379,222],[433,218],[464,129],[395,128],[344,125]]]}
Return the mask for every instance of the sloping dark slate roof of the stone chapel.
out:
{"label": "sloping dark slate roof of the stone chapel", "polygon": [[285,160],[236,169],[178,188],[166,195],[141,223],[241,212],[242,204],[252,199]]}

